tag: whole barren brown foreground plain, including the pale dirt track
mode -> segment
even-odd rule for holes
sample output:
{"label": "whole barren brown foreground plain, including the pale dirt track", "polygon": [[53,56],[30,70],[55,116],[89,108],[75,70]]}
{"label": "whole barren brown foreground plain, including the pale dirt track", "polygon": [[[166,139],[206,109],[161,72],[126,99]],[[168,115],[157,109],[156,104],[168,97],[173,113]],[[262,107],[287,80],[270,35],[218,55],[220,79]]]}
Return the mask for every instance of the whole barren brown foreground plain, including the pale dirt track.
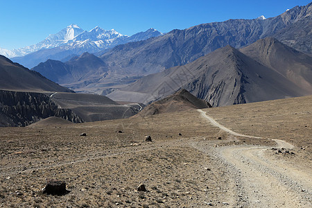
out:
{"label": "whole barren brown foreground plain, including the pale dirt track", "polygon": [[1,128],[0,207],[311,207],[311,103]]}

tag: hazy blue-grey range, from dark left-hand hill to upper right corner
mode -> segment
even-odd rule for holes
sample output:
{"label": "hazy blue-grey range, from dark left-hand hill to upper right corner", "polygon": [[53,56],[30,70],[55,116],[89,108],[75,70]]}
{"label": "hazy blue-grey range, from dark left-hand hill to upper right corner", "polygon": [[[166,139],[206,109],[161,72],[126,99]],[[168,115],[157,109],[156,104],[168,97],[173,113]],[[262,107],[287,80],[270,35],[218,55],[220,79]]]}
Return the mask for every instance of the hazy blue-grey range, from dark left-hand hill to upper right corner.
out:
{"label": "hazy blue-grey range, from dark left-hand hill to upper right corner", "polygon": [[[95,53],[102,64],[93,67],[90,69],[92,73],[84,76],[78,76],[79,67],[72,67],[78,65],[74,62],[79,56],[64,63],[49,60],[33,70],[76,92],[106,95],[142,76],[193,62],[227,45],[241,49],[264,37],[276,37],[297,51],[311,53],[311,18],[312,3],[309,3],[296,6],[277,17],[229,19],[184,30],[176,29],[148,40],[119,44],[108,51]],[[92,56],[92,59],[96,58]],[[87,58],[84,60],[88,62]],[[71,71],[70,78],[63,79],[62,71]]]}

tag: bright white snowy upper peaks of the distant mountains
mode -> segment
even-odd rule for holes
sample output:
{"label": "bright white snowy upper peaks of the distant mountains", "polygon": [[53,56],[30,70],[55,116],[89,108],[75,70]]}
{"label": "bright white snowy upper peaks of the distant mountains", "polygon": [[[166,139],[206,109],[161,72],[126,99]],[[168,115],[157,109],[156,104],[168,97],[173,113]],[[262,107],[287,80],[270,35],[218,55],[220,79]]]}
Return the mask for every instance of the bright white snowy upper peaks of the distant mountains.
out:
{"label": "bright white snowy upper peaks of the distant mountains", "polygon": [[40,51],[42,49],[53,49],[59,46],[64,46],[63,48],[66,49],[87,47],[85,51],[94,53],[103,49],[109,49],[117,44],[146,40],[149,37],[156,37],[158,35],[162,35],[162,33],[159,33],[155,29],[151,28],[146,32],[132,35],[133,38],[131,38],[132,36],[129,37],[128,35],[122,35],[114,29],[104,30],[96,26],[96,28],[93,28],[91,31],[84,31],[77,24],[71,24],[67,26],[67,28],[62,29],[62,31],[49,35],[45,40],[39,42],[38,44],[33,44],[20,49],[13,49],[12,51],[0,48],[0,55],[6,55],[8,58],[14,58]]}

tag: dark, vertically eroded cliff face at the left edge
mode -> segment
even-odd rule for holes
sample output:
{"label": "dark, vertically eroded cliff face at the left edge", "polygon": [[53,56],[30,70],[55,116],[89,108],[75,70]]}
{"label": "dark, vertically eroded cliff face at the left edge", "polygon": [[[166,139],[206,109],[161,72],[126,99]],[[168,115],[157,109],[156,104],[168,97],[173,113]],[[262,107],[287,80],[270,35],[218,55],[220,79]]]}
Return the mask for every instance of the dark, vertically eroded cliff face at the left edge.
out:
{"label": "dark, vertically eroded cliff face at the left edge", "polygon": [[26,126],[49,116],[83,122],[71,110],[59,109],[45,94],[0,90],[0,126]]}

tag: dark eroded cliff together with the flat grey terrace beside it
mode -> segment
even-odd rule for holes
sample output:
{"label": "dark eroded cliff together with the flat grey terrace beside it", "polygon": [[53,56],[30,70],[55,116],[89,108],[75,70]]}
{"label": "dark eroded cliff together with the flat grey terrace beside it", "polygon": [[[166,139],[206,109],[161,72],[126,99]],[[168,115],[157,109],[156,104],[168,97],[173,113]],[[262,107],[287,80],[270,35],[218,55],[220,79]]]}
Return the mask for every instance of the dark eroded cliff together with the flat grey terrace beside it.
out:
{"label": "dark eroded cliff together with the flat grey terrace beside it", "polygon": [[26,126],[50,116],[73,123],[124,119],[139,112],[136,103],[120,105],[105,96],[0,90],[0,127]]}

